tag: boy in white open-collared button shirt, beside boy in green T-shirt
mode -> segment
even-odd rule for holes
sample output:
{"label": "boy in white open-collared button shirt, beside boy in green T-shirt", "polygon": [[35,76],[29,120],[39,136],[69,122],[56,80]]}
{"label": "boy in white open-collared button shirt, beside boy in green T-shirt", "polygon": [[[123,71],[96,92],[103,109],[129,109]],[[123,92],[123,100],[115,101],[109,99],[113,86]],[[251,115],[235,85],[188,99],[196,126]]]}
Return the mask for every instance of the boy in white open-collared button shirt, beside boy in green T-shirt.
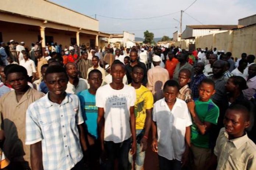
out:
{"label": "boy in white open-collared button shirt, beside boy in green T-shirt", "polygon": [[179,169],[188,162],[191,117],[185,101],[178,99],[179,85],[164,84],[164,98],[153,107],[152,149],[159,157],[160,170]]}

